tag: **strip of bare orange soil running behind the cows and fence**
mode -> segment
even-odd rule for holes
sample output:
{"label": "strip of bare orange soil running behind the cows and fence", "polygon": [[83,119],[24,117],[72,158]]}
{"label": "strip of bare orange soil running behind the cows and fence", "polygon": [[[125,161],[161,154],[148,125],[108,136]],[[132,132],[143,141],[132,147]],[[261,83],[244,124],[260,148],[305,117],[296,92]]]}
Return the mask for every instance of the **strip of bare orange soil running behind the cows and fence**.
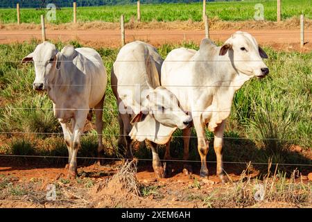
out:
{"label": "strip of bare orange soil running behind the cows and fence", "polygon": [[[88,24],[75,25],[78,26],[78,28],[73,28],[74,26],[72,24],[60,25],[60,27],[58,26],[57,28],[55,28],[55,26],[48,26],[46,28],[46,36],[49,40],[54,41],[60,40],[69,42],[71,40],[77,40],[87,46],[120,47],[121,34],[118,26],[107,26],[107,28],[103,28],[101,24],[90,24],[92,28],[79,28],[80,26],[84,27],[87,25]],[[224,42],[233,33],[241,30],[254,35],[259,44],[263,46],[271,46],[273,49],[279,51],[300,51],[309,53],[312,50],[312,26],[310,26],[310,23],[306,26],[306,44],[303,49],[300,48],[300,28],[286,25],[280,27],[266,26],[263,24],[263,27],[259,29],[253,28],[253,26],[239,26],[239,24],[231,26],[227,24],[227,26],[221,26],[221,28],[211,28],[210,38],[214,42]],[[29,42],[33,39],[41,39],[41,31],[40,28],[36,28],[37,25],[26,24],[18,28],[15,25],[12,25],[12,27],[10,25],[3,27],[2,29],[0,28],[0,44]],[[142,40],[155,46],[188,41],[199,44],[202,38],[205,37],[205,31],[200,27],[201,26],[198,26],[198,28],[196,28],[196,26],[190,28],[178,28],[178,26],[172,26],[170,28],[164,26],[126,27],[125,40],[126,42]]]}

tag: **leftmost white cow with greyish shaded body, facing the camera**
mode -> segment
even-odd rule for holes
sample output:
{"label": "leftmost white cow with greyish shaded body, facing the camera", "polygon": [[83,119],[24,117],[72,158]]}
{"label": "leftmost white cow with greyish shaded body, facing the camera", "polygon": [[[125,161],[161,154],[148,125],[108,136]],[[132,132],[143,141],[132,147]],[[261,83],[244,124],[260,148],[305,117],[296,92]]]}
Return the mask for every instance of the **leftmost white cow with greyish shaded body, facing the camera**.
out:
{"label": "leftmost white cow with greyish shaded body, facing the camera", "polygon": [[[65,46],[58,51],[54,44],[39,44],[22,62],[33,61],[35,81],[33,88],[45,90],[53,101],[53,111],[64,133],[69,151],[69,178],[76,176],[76,155],[80,147],[90,109],[96,112],[98,153],[103,151],[103,102],[107,74],[101,56],[89,48],[74,49]],[[71,122],[71,126],[69,125]]]}

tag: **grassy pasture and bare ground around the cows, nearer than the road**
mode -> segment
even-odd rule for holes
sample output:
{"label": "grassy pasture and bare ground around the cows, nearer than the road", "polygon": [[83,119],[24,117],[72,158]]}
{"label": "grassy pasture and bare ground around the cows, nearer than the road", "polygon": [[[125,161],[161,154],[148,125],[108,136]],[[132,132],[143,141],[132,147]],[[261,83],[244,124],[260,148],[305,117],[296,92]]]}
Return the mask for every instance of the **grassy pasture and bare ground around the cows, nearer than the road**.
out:
{"label": "grassy pasture and bare ground around the cows, nearer than the road", "polygon": [[[302,183],[302,177],[300,179],[302,173],[306,181],[306,175],[311,171],[311,167],[300,165],[311,164],[312,157],[311,52],[286,53],[264,47],[269,57],[266,64],[270,68],[270,74],[261,80],[251,80],[236,93],[232,114],[227,121],[225,171],[233,179],[228,185],[202,182],[198,178],[199,163],[194,163],[193,176],[182,176],[178,170],[181,163],[177,162],[177,171],[173,178],[158,182],[146,180],[146,176],[153,177],[151,162],[139,160],[137,177],[133,176],[136,169],[128,166],[128,174],[119,176],[131,178],[132,175],[132,183],[121,183],[119,187],[116,186],[116,177],[111,176],[116,169],[121,172],[121,162],[105,160],[104,167],[90,169],[85,166],[94,163],[94,160],[78,159],[79,176],[74,181],[66,180],[62,176],[55,177],[53,172],[65,171],[47,167],[64,167],[66,158],[62,157],[67,157],[68,154],[60,135],[60,125],[53,117],[51,101],[45,94],[33,90],[33,66],[21,65],[20,62],[38,43],[33,40],[31,43],[0,45],[0,154],[55,157],[0,157],[0,167],[6,168],[10,162],[12,171],[17,166],[17,169],[30,164],[37,166],[31,167],[30,171],[33,170],[34,174],[26,176],[22,181],[17,178],[18,173],[8,175],[3,173],[5,170],[0,172],[0,207],[42,207],[46,203],[46,191],[40,187],[51,181],[57,186],[58,199],[48,203],[50,207],[168,207],[168,203],[172,207],[250,207],[257,206],[257,201],[253,198],[256,191],[254,186],[257,184],[265,185],[268,191],[266,203],[311,207],[311,183]],[[82,46],[76,41],[54,43],[58,49],[67,43],[76,47]],[[158,50],[165,58],[169,51],[179,46],[198,49],[198,44],[183,42],[164,44]],[[110,74],[118,49],[98,47],[96,50],[105,62],[107,74]],[[116,146],[119,126],[110,84],[107,86],[103,113],[105,157],[122,158],[124,151]],[[177,130],[171,142],[171,155],[175,160],[182,160],[181,136],[182,132]],[[195,131],[192,136],[190,160],[197,161],[200,157]],[[208,131],[207,137],[212,137]],[[207,158],[211,162],[211,178],[216,178],[216,157],[213,150],[211,146]],[[159,153],[162,157],[164,149]],[[139,159],[150,159],[151,153],[148,148],[143,147],[135,151],[135,156]],[[85,126],[78,157],[96,157],[96,130],[92,123],[88,122]],[[252,163],[248,165],[250,161]],[[268,167],[268,162],[273,165]],[[275,163],[278,163],[278,167]],[[287,165],[290,163],[299,165]],[[240,176],[246,164],[247,170]],[[45,173],[49,180],[36,178],[40,172]],[[107,176],[112,178],[110,182],[105,180]],[[249,179],[245,181],[246,178]],[[112,193],[107,193],[106,189],[102,189],[103,186],[115,187],[116,198],[107,198]],[[137,202],[127,202],[124,205],[122,198],[133,200],[133,191],[135,196],[139,196]],[[180,200],[175,199],[177,196]],[[96,205],[97,203],[102,205]]]}

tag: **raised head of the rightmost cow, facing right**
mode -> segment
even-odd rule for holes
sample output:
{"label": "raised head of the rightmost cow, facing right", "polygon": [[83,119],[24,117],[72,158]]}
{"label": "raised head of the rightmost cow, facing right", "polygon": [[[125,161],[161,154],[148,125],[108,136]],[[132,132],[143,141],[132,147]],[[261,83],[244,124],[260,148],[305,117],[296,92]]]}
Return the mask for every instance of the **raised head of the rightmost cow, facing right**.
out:
{"label": "raised head of the rightmost cow, facing right", "polygon": [[239,74],[263,78],[269,73],[263,58],[268,58],[257,41],[249,33],[238,31],[220,48],[219,56],[228,54]]}

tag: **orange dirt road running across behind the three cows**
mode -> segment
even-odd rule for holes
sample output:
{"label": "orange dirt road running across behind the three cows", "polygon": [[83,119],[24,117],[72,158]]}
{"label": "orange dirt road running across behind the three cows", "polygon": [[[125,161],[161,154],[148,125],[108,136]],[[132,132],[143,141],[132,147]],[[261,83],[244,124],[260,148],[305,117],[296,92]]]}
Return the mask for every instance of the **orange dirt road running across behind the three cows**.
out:
{"label": "orange dirt road running across behind the three cows", "polygon": [[[211,31],[210,38],[215,42],[225,41],[236,30]],[[272,46],[282,51],[304,51],[309,52],[312,49],[312,29],[305,31],[305,46],[300,49],[300,31],[298,29],[260,29],[260,30],[242,30],[251,33],[256,37],[259,44],[264,46]],[[120,30],[46,30],[46,37],[49,40],[78,40],[89,46],[120,46]],[[177,43],[182,41],[193,41],[199,43],[205,33],[202,30],[186,31],[186,30],[162,30],[162,29],[135,29],[125,30],[126,42],[133,40],[142,40],[149,42],[155,46],[165,43]],[[33,38],[40,39],[40,30],[16,30],[16,31],[0,31],[0,44],[9,42],[29,41]]]}

